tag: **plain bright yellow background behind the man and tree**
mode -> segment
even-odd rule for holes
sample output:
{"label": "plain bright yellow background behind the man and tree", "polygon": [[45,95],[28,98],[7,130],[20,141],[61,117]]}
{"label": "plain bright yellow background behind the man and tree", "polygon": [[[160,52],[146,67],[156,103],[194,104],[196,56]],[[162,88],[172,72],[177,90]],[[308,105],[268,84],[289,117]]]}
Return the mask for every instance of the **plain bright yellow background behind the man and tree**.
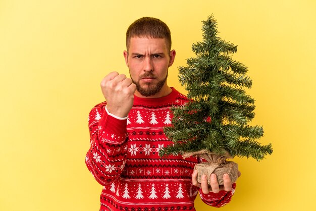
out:
{"label": "plain bright yellow background behind the man and tree", "polygon": [[[193,56],[201,21],[238,44],[267,159],[234,159],[242,176],[221,210],[316,210],[316,3],[310,1],[0,1],[0,210],[98,210],[101,186],[84,164],[87,116],[99,82],[128,73],[125,32],[143,16],[172,32],[178,66]],[[197,199],[197,210],[215,210]]]}

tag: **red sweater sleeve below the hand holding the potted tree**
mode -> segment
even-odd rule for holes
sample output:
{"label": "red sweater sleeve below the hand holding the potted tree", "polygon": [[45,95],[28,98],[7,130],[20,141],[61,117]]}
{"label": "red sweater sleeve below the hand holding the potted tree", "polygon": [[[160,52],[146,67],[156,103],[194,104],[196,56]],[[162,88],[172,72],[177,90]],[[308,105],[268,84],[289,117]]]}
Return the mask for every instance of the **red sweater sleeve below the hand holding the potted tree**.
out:
{"label": "red sweater sleeve below the hand holding the potted tree", "polygon": [[236,183],[232,185],[232,190],[227,192],[225,190],[221,190],[219,193],[209,192],[208,194],[203,194],[201,189],[200,192],[200,198],[202,201],[210,206],[214,207],[222,207],[226,204],[228,204],[232,196],[234,195],[236,189]]}

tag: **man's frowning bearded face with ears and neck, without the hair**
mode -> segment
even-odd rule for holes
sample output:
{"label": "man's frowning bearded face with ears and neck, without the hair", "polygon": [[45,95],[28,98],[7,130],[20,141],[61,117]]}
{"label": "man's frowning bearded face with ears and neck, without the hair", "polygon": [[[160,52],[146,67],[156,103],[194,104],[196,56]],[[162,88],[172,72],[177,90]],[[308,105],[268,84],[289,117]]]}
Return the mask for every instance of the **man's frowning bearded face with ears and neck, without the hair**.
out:
{"label": "man's frowning bearded face with ears and neck, without the hair", "polygon": [[[131,79],[137,86],[136,95],[160,97],[168,90],[168,68],[176,52],[169,51],[161,38],[132,37],[128,52],[124,51]],[[137,93],[138,92],[138,93]]]}

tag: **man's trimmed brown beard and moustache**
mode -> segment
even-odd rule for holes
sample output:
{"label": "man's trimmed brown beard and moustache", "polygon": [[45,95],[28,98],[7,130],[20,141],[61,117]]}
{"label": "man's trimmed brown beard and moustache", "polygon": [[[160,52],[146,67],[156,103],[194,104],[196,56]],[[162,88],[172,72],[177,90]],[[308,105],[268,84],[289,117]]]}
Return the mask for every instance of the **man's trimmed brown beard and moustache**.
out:
{"label": "man's trimmed brown beard and moustache", "polygon": [[[151,72],[147,72],[147,73],[139,76],[138,77],[138,81],[140,81],[140,79],[144,78],[144,77],[156,78]],[[145,97],[148,97],[148,96],[155,95],[156,93],[158,93],[163,88],[164,84],[166,83],[167,77],[168,77],[168,72],[167,72],[166,77],[163,80],[158,81],[158,83],[156,85],[151,84],[151,83],[145,83],[143,86],[141,86],[132,77],[131,77],[131,79],[132,79],[133,83],[136,84],[137,91],[141,95],[143,95]]]}

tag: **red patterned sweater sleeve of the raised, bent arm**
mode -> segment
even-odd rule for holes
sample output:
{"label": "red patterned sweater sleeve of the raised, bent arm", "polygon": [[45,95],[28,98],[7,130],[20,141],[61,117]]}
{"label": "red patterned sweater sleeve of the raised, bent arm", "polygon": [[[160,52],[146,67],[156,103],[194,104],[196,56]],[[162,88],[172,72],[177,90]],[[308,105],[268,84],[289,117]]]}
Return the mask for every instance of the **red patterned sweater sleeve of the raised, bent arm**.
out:
{"label": "red patterned sweater sleeve of the raised, bent arm", "polygon": [[106,103],[89,113],[90,148],[86,166],[101,185],[118,179],[124,169],[127,151],[127,120],[116,119],[105,110]]}

